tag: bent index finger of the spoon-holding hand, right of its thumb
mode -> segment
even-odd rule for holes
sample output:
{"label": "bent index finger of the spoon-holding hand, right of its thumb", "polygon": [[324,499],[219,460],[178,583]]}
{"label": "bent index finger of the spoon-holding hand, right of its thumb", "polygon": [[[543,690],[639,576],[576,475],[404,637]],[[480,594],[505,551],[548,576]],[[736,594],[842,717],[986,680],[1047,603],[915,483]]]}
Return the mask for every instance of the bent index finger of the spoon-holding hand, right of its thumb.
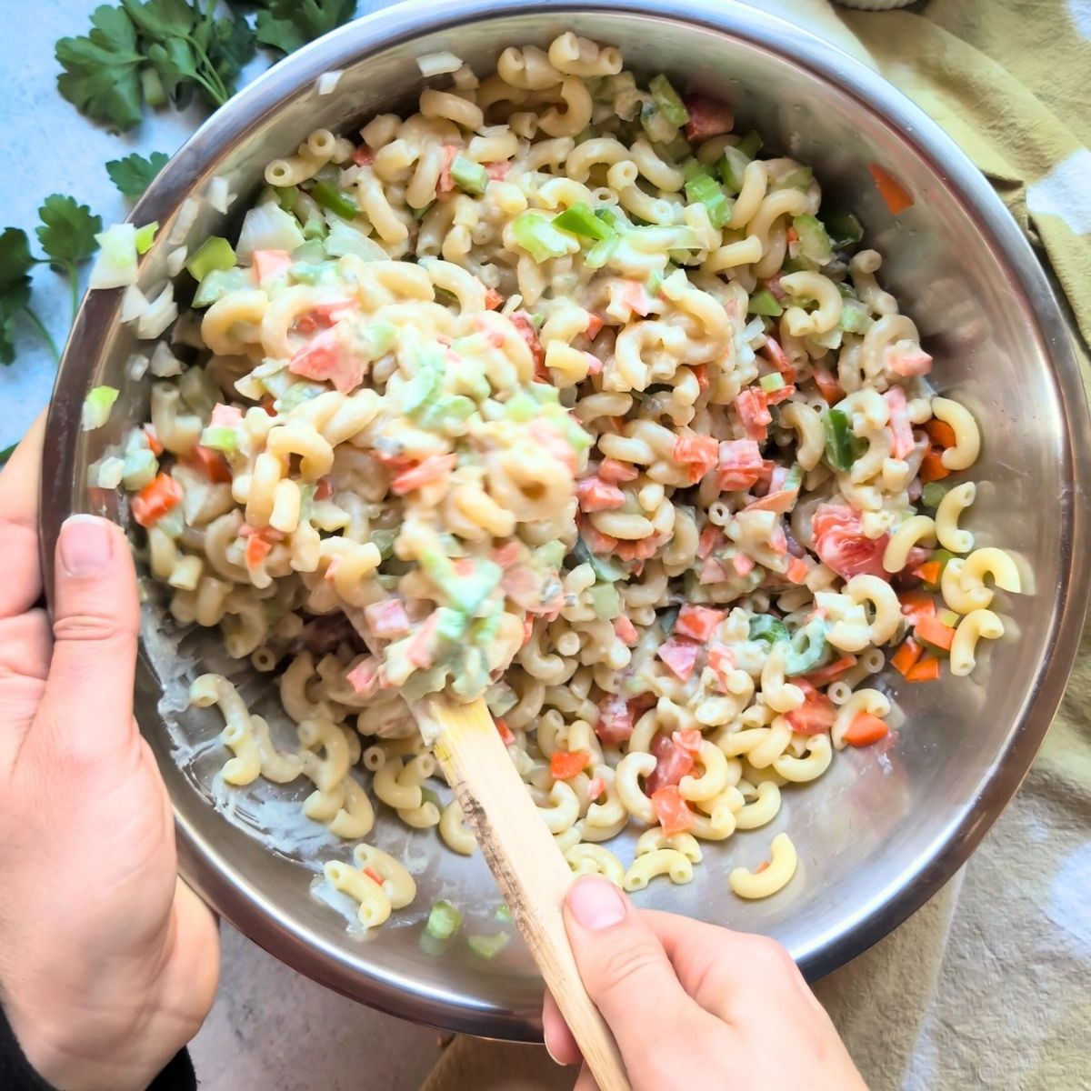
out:
{"label": "bent index finger of the spoon-holding hand, right of its thumb", "polygon": [[789,993],[818,1003],[791,955],[775,939],[656,910],[643,910],[640,918],[662,945],[682,987],[718,1019],[745,1022],[763,1003],[776,1006]]}

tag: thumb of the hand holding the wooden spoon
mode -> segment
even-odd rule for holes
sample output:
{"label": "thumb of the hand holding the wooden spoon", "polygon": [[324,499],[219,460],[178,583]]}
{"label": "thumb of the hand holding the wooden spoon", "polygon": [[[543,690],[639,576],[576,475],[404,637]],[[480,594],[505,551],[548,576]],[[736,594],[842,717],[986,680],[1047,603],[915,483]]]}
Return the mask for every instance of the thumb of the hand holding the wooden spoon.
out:
{"label": "thumb of the hand holding the wooden spoon", "polygon": [[630,900],[598,875],[577,879],[564,924],[588,995],[602,1012],[630,1071],[636,1058],[673,1041],[678,1019],[694,1006],[662,944]]}

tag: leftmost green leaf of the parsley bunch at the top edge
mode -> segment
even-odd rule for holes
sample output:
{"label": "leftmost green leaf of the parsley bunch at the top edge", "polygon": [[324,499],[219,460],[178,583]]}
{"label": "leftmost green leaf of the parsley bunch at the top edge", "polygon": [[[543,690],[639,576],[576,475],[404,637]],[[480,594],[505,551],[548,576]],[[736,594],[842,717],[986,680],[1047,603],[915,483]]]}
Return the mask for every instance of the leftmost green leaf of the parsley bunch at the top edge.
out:
{"label": "leftmost green leaf of the parsley bunch at the top edge", "polygon": [[57,60],[64,72],[57,77],[60,93],[92,121],[124,132],[141,119],[136,28],[120,9],[103,4],[91,16],[86,37],[61,38]]}

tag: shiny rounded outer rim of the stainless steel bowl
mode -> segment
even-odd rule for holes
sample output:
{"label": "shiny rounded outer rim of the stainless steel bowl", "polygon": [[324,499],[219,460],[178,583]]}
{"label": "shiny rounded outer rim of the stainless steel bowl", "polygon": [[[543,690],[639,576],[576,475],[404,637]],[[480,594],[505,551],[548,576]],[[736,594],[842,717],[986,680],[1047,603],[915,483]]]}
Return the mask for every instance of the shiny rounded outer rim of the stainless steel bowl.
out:
{"label": "shiny rounded outer rim of the stainless steel bowl", "polygon": [[[967,155],[927,115],[877,72],[825,39],[738,0],[406,0],[356,20],[285,58],[245,86],[208,118],[182,145],[133,208],[129,219],[156,219],[165,227],[182,201],[207,173],[218,149],[233,146],[249,131],[321,75],[362,58],[436,31],[479,22],[548,13],[603,13],[687,23],[727,34],[778,53],[832,84],[876,113],[942,177],[982,233],[995,248],[1033,314],[1034,333],[1051,361],[1067,429],[1063,452],[1065,479],[1074,482],[1062,499],[1060,578],[1052,589],[1054,621],[1043,649],[1044,667],[1024,696],[1004,748],[992,760],[981,793],[951,817],[911,874],[897,889],[879,891],[827,933],[794,951],[811,980],[862,954],[924,904],[955,872],[1018,790],[1060,703],[1079,646],[1091,595],[1091,505],[1078,503],[1082,479],[1091,480],[1091,417],[1063,310],[1029,242]],[[47,420],[41,493],[41,567],[52,607],[53,549],[64,517],[75,511],[74,480],[79,420],[83,398],[104,358],[120,309],[120,291],[84,297],[57,372]],[[175,805],[180,871],[243,934],[293,969],[337,992],[389,1015],[459,1032],[516,1041],[540,1041],[540,1027],[528,1012],[473,1006],[439,986],[415,987],[393,972],[361,972],[305,924],[289,920],[262,897],[220,855],[217,846],[196,835]]]}

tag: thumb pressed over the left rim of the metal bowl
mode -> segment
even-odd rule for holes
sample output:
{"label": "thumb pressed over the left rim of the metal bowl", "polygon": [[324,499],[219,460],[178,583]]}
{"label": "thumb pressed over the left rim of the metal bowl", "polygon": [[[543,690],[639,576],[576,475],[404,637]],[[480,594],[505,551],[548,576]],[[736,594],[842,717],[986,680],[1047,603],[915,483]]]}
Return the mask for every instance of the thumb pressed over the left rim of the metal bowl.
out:
{"label": "thumb pressed over the left rim of the metal bowl", "polygon": [[121,529],[69,516],[57,541],[53,654],[35,720],[43,743],[94,757],[131,736],[139,630],[136,572]]}

